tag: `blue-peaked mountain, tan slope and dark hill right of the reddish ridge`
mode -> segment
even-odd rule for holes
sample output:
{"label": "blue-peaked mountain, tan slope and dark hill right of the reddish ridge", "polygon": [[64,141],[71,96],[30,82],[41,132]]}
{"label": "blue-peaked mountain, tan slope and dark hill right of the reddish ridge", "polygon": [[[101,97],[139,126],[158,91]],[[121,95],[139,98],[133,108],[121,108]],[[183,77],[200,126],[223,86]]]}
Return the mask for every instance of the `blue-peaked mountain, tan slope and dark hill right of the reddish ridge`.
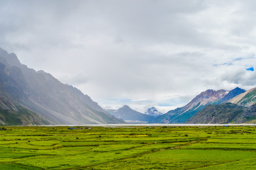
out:
{"label": "blue-peaked mountain, tan slope and dark hill right of the reddish ridge", "polygon": [[220,101],[223,103],[205,107],[185,123],[256,123],[256,88],[245,91],[237,87]]}

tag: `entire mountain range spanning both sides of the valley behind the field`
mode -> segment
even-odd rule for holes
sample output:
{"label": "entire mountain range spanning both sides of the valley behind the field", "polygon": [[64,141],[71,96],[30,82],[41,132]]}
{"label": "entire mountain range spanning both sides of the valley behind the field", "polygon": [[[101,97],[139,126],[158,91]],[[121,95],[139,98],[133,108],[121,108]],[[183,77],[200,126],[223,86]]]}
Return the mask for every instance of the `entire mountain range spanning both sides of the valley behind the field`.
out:
{"label": "entire mountain range spanning both sides of the valley behind the field", "polygon": [[127,105],[103,110],[76,87],[27,68],[14,53],[0,48],[0,125],[109,123],[256,123],[256,87],[208,89],[165,114],[155,107],[141,113]]}

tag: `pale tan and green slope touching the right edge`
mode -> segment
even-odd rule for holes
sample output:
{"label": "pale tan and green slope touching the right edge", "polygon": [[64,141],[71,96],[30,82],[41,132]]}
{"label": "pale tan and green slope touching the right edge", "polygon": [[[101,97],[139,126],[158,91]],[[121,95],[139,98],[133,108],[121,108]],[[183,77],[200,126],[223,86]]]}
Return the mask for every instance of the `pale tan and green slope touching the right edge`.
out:
{"label": "pale tan and green slope touching the right edge", "polygon": [[239,106],[249,107],[256,103],[256,87],[241,93],[227,102],[238,104]]}

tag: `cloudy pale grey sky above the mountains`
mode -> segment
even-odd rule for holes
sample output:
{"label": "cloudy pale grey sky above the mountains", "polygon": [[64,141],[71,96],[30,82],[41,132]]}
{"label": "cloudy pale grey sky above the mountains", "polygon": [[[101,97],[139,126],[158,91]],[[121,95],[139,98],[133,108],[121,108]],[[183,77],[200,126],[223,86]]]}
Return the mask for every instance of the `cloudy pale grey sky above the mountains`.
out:
{"label": "cloudy pale grey sky above the mountains", "polygon": [[0,0],[0,47],[106,109],[256,87],[255,0]]}

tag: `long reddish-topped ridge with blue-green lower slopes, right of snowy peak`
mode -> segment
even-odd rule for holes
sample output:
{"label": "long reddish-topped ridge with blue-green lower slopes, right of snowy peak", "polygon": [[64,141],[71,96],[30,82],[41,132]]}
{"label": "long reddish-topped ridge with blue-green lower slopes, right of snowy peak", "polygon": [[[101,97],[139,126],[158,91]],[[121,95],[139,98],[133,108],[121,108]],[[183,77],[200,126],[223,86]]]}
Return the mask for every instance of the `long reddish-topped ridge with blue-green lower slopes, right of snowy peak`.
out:
{"label": "long reddish-topped ridge with blue-green lower slopes, right of snowy peak", "polygon": [[170,110],[167,113],[156,117],[152,123],[185,123],[197,111],[205,106],[221,100],[228,91],[225,90],[206,90],[197,95],[191,102],[181,108]]}

